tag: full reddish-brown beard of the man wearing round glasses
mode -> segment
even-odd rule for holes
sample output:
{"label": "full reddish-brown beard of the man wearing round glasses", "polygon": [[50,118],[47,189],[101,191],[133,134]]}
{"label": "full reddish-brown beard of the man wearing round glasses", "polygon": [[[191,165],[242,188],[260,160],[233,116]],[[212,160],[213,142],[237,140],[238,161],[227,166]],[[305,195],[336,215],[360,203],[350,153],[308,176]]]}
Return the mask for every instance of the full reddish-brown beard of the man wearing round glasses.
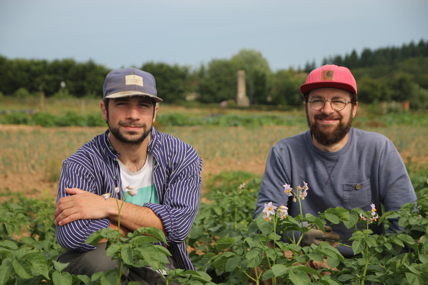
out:
{"label": "full reddish-brown beard of the man wearing round glasses", "polygon": [[338,126],[325,126],[321,123],[318,123],[317,119],[328,118],[328,119],[336,119],[333,115],[325,116],[323,114],[317,114],[314,116],[315,123],[312,123],[309,120],[308,112],[306,112],[306,119],[308,120],[308,126],[311,130],[311,135],[318,141],[319,144],[324,146],[330,146],[333,144],[339,143],[345,135],[348,134],[349,129],[351,129],[352,125],[352,112],[350,112],[348,123],[343,123],[342,118],[339,119]]}

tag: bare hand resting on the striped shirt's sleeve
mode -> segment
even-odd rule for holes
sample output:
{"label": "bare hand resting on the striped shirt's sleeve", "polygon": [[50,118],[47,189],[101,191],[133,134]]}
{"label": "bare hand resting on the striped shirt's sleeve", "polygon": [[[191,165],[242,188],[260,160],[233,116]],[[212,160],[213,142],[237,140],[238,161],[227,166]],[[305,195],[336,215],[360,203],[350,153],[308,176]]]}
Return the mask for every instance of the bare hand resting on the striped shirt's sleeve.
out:
{"label": "bare hand resting on the striped shirt's sleeve", "polygon": [[[111,201],[103,197],[80,190],[79,188],[65,188],[65,193],[71,196],[62,197],[55,204],[53,212],[54,223],[63,226],[75,220],[102,219],[107,217]],[[116,204],[114,205],[116,208]]]}

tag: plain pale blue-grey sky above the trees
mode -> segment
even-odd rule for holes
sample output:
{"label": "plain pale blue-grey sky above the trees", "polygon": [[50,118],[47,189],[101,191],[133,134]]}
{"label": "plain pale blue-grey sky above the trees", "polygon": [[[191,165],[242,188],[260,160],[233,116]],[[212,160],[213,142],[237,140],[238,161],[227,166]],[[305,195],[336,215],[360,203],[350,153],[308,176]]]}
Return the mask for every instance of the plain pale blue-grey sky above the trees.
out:
{"label": "plain pale blue-grey sky above the trees", "polygon": [[197,68],[247,48],[277,71],[428,41],[427,15],[428,0],[0,0],[0,55]]}

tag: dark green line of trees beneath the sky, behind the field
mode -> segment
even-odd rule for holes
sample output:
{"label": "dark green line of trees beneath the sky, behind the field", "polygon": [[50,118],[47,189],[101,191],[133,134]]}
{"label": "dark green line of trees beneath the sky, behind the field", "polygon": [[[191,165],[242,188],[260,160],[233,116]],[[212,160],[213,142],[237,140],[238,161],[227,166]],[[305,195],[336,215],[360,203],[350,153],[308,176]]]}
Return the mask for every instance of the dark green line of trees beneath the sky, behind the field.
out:
{"label": "dark green line of trees beneath the sky, behind the field", "polygon": [[[348,67],[355,76],[358,99],[363,103],[409,101],[413,109],[428,108],[428,40],[411,41],[401,47],[363,49],[359,55],[332,55],[324,64]],[[247,96],[252,105],[300,106],[299,87],[318,66],[273,72],[257,50],[242,49],[229,59],[212,59],[198,68],[146,62],[134,66],[152,73],[159,97],[166,103],[196,100],[200,103],[233,103],[237,92],[237,71],[246,73]],[[104,79],[110,69],[92,60],[7,59],[0,55],[0,95],[36,97],[101,98]]]}

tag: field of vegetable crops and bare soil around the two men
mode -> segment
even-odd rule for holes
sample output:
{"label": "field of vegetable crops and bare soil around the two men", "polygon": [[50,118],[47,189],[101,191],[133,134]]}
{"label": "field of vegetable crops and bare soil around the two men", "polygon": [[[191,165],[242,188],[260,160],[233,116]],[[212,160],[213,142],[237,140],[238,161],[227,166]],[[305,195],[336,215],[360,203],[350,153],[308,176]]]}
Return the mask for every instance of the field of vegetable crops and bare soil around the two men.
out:
{"label": "field of vegetable crops and bare soil around the two men", "polygon": [[[93,106],[85,108],[86,111],[96,109]],[[370,117],[368,113],[363,109],[357,114],[360,118],[354,120],[354,126],[380,132],[395,144],[419,197],[418,208],[413,212],[413,207],[405,205],[400,212],[389,212],[380,217],[380,220],[400,217],[404,232],[378,237],[358,227],[360,230],[355,231],[352,245],[356,256],[344,259],[326,244],[302,248],[298,240],[279,241],[275,232],[291,229],[304,232],[307,228],[299,227],[303,221],[345,223],[349,228],[357,228],[357,224],[364,226],[370,221],[360,220],[360,214],[369,217],[369,213],[361,209],[328,209],[319,217],[300,215],[279,220],[275,216],[268,222],[262,218],[251,220],[270,147],[281,138],[307,129],[301,110],[161,106],[156,128],[193,145],[203,159],[202,203],[186,241],[198,272],[174,270],[168,272],[168,280],[209,285],[247,284],[250,279],[254,284],[262,284],[262,280],[268,279],[276,284],[425,284],[428,277],[428,198],[424,196],[428,194],[428,114]],[[61,113],[51,114],[61,116]],[[27,119],[27,123],[31,122],[31,115],[27,115]],[[62,160],[104,132],[106,127],[4,124],[6,115],[0,117],[2,120],[0,285],[116,284],[117,273],[100,273],[91,279],[61,271],[64,265],[56,263],[55,259],[63,249],[56,243],[52,219]],[[245,188],[240,187],[243,183]],[[259,234],[255,234],[257,230]],[[142,261],[121,255],[122,248],[125,252],[129,247],[131,256],[144,259],[144,249],[150,247],[149,241],[138,239],[144,232],[163,239],[162,234],[149,228],[119,241],[115,254],[125,266]],[[103,237],[110,238],[112,247],[117,243],[111,233],[106,232],[90,238],[95,242]],[[274,250],[267,246],[271,241],[276,241]],[[411,248],[408,253],[401,251],[405,244]],[[162,256],[167,253],[154,250],[158,250],[158,256],[150,258],[152,266],[162,268]],[[285,259],[283,251],[293,254]],[[331,268],[336,267],[339,271],[298,265],[309,260],[320,261],[323,257],[327,258]],[[53,270],[53,264],[59,270]],[[264,267],[267,271],[263,276],[252,274],[256,267]]]}

